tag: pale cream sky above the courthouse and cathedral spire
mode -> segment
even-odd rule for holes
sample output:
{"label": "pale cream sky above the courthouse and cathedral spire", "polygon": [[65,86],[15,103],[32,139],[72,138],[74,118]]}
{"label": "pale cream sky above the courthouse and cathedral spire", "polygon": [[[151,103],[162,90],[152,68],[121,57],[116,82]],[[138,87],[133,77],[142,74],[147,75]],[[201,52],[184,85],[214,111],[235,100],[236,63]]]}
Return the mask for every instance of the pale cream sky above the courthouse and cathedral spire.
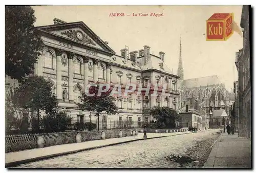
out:
{"label": "pale cream sky above the courthouse and cathedral spire", "polygon": [[[35,26],[53,24],[54,18],[66,22],[83,21],[120,55],[144,45],[151,53],[165,53],[165,63],[177,73],[180,36],[184,79],[218,75],[230,91],[238,72],[234,65],[236,52],[243,47],[243,38],[236,32],[227,41],[206,41],[206,20],[214,13],[234,13],[240,26],[242,6],[32,6]],[[110,17],[110,13],[125,16]],[[162,17],[133,17],[139,13],[163,13]],[[126,16],[131,14],[131,16]]]}

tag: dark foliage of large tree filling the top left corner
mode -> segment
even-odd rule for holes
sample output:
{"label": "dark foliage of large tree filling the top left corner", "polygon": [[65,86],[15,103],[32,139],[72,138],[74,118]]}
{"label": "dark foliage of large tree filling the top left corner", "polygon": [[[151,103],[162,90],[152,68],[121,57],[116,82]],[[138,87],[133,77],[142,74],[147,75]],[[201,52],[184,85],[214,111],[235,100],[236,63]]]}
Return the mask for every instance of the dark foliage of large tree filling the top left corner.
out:
{"label": "dark foliage of large tree filling the top left corner", "polygon": [[35,21],[30,6],[5,7],[5,74],[19,82],[33,73],[44,45],[35,32]]}

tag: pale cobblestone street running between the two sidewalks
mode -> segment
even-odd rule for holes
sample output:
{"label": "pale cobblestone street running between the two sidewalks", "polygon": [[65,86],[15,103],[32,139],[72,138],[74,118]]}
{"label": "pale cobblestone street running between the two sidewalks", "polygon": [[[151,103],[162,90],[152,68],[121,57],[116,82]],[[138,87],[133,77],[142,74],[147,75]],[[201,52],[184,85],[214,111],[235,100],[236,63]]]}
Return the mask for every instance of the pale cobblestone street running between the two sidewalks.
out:
{"label": "pale cobblestone street running between the two sidewalks", "polygon": [[[193,156],[206,161],[210,145],[218,138],[219,130],[200,131],[158,139],[140,140],[125,144],[102,147],[100,149],[70,154],[48,160],[19,165],[19,168],[173,168],[178,163],[168,161],[170,154]],[[200,146],[201,143],[207,145]],[[197,147],[202,150],[201,154]],[[200,149],[201,150],[201,149]]]}

